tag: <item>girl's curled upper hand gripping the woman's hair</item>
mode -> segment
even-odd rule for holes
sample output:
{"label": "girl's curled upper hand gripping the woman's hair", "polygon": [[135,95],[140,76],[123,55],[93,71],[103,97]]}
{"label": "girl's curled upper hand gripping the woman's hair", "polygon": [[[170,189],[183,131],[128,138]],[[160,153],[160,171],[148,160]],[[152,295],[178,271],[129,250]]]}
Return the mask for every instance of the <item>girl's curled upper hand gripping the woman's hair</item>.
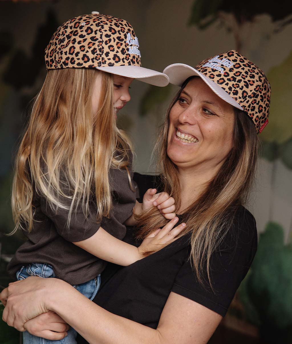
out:
{"label": "girl's curled upper hand gripping the woman's hair", "polygon": [[160,213],[167,219],[172,219],[176,216],[175,200],[169,197],[167,192],[156,193],[156,189],[148,189],[143,197],[142,211],[145,211],[153,206],[156,206]]}

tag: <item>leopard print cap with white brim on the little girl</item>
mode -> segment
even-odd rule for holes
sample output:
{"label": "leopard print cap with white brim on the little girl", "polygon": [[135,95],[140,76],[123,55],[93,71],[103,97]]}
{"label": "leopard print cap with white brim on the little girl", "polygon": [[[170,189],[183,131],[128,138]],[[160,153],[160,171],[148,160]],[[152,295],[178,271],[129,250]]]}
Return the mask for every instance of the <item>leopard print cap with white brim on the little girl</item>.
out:
{"label": "leopard print cap with white brim on the little girl", "polygon": [[92,12],[61,25],[45,49],[47,69],[97,68],[166,86],[168,76],[141,67],[138,38],[123,19]]}

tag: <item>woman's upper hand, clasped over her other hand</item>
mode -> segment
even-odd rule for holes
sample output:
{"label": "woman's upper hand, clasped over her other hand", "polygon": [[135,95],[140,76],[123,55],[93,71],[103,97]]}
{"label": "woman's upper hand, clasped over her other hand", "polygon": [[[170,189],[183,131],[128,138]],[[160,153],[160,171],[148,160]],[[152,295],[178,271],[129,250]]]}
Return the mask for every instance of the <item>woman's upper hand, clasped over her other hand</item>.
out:
{"label": "woman's upper hand, clasped over her other hand", "polygon": [[9,283],[0,293],[4,304],[2,319],[18,331],[25,331],[24,324],[36,316],[48,312],[48,301],[67,283],[56,278],[28,277],[22,281]]}

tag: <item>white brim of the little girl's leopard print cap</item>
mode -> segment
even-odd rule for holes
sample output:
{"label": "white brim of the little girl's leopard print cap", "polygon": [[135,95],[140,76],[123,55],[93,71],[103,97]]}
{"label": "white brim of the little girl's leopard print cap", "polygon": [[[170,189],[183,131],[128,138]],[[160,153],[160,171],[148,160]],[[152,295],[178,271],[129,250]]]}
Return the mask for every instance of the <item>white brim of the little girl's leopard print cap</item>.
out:
{"label": "white brim of the little girl's leopard print cap", "polygon": [[169,78],[166,74],[153,71],[152,69],[140,66],[113,66],[113,67],[96,67],[100,71],[135,78],[144,83],[155,86],[167,86]]}

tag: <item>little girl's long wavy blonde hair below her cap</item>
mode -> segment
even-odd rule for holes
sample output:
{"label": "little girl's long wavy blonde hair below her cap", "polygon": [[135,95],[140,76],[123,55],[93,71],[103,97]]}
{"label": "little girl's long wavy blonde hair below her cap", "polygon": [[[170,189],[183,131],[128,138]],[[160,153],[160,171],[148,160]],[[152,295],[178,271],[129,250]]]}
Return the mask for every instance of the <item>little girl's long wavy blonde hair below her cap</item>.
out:
{"label": "little girl's long wavy blonde hair below her cap", "polygon": [[[92,90],[101,73],[100,101],[92,114]],[[33,228],[36,195],[52,209],[78,205],[90,213],[96,203],[97,222],[112,206],[110,168],[128,172],[131,144],[116,127],[112,74],[89,68],[49,70],[36,96],[15,160],[12,188],[13,234]]]}

